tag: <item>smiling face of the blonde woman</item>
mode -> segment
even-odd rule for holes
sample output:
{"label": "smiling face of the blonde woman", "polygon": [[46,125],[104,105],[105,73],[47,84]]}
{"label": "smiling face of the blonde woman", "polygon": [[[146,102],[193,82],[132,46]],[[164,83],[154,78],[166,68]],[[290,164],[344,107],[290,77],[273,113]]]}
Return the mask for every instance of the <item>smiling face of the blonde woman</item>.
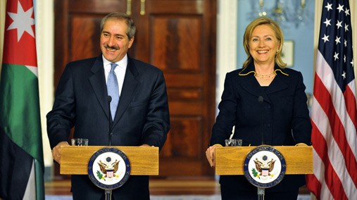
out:
{"label": "smiling face of the blonde woman", "polygon": [[249,39],[249,53],[254,63],[274,64],[280,42],[269,25],[258,25]]}

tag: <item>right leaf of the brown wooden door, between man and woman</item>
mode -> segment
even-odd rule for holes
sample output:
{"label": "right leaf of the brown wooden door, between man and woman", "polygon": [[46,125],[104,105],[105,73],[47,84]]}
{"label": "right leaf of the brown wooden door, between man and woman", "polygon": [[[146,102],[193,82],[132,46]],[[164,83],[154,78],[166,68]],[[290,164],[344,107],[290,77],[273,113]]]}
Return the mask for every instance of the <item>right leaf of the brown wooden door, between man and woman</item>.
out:
{"label": "right leaf of the brown wooden door, between man and woman", "polygon": [[[209,175],[204,154],[215,117],[215,1],[146,1],[136,55],[163,70],[171,130],[160,175]],[[138,30],[140,31],[140,30]],[[141,43],[141,42],[140,42]],[[149,49],[149,51],[138,51]]]}

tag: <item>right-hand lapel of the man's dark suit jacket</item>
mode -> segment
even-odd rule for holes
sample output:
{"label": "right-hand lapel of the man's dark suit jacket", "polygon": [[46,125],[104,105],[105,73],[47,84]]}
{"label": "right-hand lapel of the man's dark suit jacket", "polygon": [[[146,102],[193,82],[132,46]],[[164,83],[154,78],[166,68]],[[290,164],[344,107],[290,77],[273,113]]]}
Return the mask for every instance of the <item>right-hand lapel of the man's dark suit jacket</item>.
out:
{"label": "right-hand lapel of the man's dark suit jacket", "polygon": [[140,82],[136,79],[137,75],[139,75],[139,72],[135,68],[134,63],[132,63],[132,59],[128,57],[123,89],[120,94],[119,105],[115,113],[113,125],[118,123],[119,119],[130,105],[137,87],[140,85]]}

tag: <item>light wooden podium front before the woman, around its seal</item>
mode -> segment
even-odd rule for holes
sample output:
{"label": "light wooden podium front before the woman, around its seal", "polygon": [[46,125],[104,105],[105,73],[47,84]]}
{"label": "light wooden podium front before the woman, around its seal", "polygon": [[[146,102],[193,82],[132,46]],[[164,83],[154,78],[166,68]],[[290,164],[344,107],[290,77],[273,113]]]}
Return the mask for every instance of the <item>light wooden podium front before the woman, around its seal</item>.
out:
{"label": "light wooden podium front before the woman, around its seal", "polygon": [[[215,148],[216,175],[244,175],[244,161],[257,146],[223,146]],[[285,174],[313,174],[312,146],[273,146],[280,151],[287,165]]]}

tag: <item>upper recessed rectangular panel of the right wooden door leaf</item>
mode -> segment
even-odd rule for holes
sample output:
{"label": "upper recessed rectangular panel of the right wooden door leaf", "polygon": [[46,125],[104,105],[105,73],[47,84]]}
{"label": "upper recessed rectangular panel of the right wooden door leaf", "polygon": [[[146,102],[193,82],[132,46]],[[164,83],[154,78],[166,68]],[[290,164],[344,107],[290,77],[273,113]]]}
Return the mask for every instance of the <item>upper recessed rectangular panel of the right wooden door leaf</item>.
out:
{"label": "upper recessed rectangular panel of the right wooden door leaf", "polygon": [[201,72],[202,20],[197,16],[151,18],[154,37],[150,60],[165,73]]}

